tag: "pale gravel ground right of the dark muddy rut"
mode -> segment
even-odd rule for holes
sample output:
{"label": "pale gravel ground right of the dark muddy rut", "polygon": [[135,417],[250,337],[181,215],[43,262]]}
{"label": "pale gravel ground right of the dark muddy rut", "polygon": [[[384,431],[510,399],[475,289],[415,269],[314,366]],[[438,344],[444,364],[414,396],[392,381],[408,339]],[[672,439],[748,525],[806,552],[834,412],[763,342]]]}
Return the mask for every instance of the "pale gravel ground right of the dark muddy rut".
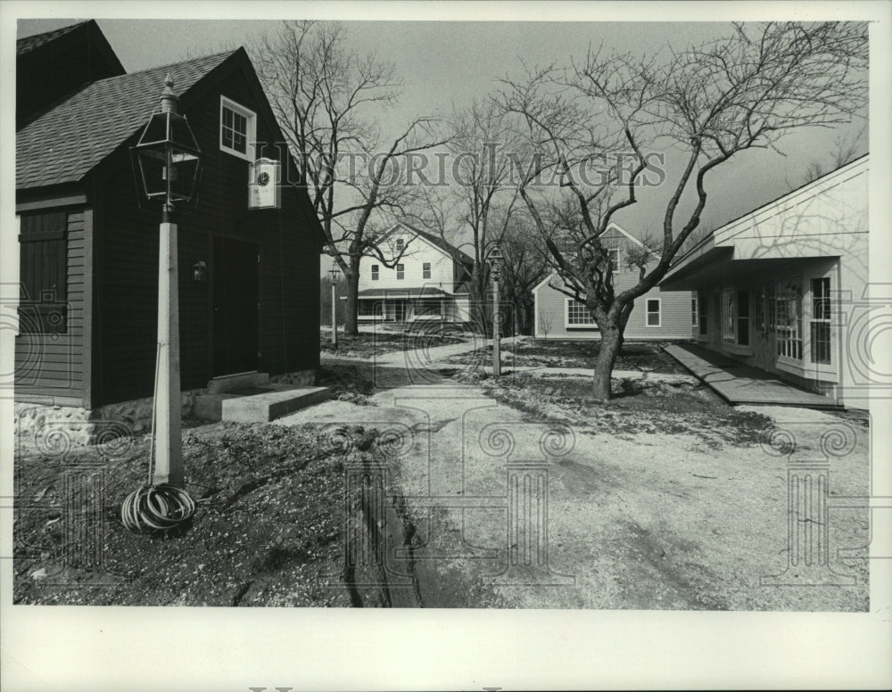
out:
{"label": "pale gravel ground right of the dark muddy rut", "polygon": [[[616,382],[603,405],[588,400],[586,377],[449,374],[417,385],[394,373],[367,406],[312,414],[401,431],[388,483],[428,585],[460,573],[483,584],[474,605],[501,607],[868,609],[866,416],[732,408],[683,381]],[[549,430],[569,440],[551,456]],[[815,460],[827,462],[810,472],[810,487],[829,481],[827,515],[789,500],[790,478]],[[530,462],[547,472],[547,491],[524,511],[546,518],[512,530],[509,465]],[[425,605],[458,605],[442,589],[427,595]]]}

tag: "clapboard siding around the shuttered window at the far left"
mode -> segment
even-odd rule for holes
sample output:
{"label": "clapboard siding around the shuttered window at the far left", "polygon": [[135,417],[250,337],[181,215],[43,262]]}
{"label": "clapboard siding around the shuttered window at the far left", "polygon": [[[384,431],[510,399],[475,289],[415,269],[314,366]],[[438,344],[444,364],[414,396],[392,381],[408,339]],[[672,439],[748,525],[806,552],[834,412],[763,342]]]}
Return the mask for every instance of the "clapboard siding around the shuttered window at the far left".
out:
{"label": "clapboard siding around the shuttered window at the far left", "polygon": [[[56,210],[65,216],[67,307],[63,334],[19,334],[15,339],[15,394],[21,400],[48,400],[56,405],[84,398],[85,214],[84,208]],[[39,213],[39,212],[37,212]],[[31,253],[20,246],[21,276],[28,271]],[[30,296],[39,299],[39,296]]]}

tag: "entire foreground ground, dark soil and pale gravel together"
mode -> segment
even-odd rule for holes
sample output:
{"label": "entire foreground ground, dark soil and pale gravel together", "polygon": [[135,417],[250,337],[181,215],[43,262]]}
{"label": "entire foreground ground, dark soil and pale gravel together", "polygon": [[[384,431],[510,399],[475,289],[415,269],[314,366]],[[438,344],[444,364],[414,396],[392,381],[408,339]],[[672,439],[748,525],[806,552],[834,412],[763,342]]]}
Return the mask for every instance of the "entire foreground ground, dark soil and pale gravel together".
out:
{"label": "entire foreground ground, dark soil and pale gravel together", "polygon": [[[168,536],[116,518],[146,435],[22,440],[15,602],[867,610],[866,417],[731,408],[640,355],[607,404],[579,375],[326,359],[333,400],[186,429],[201,506]],[[71,482],[97,467],[98,553]],[[797,499],[821,483],[826,514]]]}

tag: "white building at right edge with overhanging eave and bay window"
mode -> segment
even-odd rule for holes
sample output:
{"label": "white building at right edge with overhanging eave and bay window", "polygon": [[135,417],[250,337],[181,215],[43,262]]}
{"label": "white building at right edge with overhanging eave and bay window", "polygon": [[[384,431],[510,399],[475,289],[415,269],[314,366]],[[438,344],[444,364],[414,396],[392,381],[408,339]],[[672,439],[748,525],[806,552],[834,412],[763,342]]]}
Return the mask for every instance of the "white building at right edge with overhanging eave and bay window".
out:
{"label": "white building at right edge with overhanging eave and bay window", "polygon": [[696,292],[693,338],[830,403],[866,408],[871,385],[882,383],[871,375],[867,328],[877,297],[868,283],[869,170],[864,155],[676,260],[660,287]]}

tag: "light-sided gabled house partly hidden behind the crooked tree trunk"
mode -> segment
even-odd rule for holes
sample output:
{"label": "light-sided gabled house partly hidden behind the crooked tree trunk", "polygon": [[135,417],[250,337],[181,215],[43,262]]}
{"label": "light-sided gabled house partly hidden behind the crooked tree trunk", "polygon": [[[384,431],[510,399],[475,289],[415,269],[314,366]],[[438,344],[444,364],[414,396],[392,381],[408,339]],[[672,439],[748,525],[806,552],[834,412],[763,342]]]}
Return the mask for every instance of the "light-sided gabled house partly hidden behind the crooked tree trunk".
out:
{"label": "light-sided gabled house partly hidden behind the crooked tree trunk", "polygon": [[[601,243],[613,253],[614,286],[622,292],[638,283],[638,268],[628,268],[625,253],[643,247],[638,238],[611,223],[601,235]],[[600,339],[598,325],[581,301],[575,301],[558,288],[564,286],[557,273],[546,276],[533,288],[537,338]],[[625,328],[625,338],[678,341],[691,338],[697,305],[690,291],[664,291],[653,288],[635,300]]]}

